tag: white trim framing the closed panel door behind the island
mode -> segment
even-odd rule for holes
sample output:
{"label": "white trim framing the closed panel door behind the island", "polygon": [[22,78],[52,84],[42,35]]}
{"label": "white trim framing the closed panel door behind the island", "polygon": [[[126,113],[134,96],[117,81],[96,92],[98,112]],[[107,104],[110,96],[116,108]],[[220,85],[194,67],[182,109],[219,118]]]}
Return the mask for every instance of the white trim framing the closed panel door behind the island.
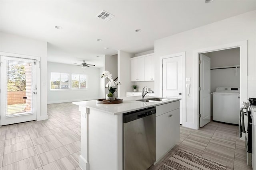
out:
{"label": "white trim framing the closed panel door behind the island", "polygon": [[182,125],[186,126],[186,51],[160,57],[160,92],[163,97],[163,59],[182,56]]}

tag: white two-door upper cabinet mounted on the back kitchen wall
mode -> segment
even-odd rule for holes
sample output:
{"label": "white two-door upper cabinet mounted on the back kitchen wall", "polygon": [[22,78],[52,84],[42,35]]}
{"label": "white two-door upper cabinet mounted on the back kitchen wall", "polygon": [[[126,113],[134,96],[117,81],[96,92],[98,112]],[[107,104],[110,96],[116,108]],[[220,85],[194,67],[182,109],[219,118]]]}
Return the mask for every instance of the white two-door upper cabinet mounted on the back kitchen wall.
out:
{"label": "white two-door upper cabinet mounted on the back kitchen wall", "polygon": [[131,81],[154,81],[154,54],[131,58]]}

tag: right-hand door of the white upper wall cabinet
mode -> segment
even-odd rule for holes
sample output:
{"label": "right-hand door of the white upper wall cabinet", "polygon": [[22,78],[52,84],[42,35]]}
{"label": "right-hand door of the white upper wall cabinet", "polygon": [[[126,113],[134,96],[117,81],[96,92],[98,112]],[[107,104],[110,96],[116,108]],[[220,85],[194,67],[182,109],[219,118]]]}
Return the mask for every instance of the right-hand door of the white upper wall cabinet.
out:
{"label": "right-hand door of the white upper wall cabinet", "polygon": [[144,57],[144,80],[154,81],[154,55]]}

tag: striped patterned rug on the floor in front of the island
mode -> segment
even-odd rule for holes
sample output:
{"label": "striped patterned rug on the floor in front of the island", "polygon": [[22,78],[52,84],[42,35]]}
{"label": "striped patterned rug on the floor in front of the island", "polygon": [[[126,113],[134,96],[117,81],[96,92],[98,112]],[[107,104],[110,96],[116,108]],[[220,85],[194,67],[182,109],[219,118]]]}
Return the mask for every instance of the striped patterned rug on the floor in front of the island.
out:
{"label": "striped patterned rug on the floor in front of the island", "polygon": [[226,166],[179,149],[158,170],[226,170]]}

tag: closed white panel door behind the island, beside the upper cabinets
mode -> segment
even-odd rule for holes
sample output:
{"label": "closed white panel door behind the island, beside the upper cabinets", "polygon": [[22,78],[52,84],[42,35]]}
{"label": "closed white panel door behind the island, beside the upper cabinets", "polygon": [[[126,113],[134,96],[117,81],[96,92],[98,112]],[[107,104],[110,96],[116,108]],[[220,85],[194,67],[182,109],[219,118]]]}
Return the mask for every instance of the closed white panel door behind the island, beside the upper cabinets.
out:
{"label": "closed white panel door behind the island, beside the upper cabinets", "polygon": [[[163,59],[163,97],[182,99],[182,56]],[[180,100],[182,124],[182,100]]]}

